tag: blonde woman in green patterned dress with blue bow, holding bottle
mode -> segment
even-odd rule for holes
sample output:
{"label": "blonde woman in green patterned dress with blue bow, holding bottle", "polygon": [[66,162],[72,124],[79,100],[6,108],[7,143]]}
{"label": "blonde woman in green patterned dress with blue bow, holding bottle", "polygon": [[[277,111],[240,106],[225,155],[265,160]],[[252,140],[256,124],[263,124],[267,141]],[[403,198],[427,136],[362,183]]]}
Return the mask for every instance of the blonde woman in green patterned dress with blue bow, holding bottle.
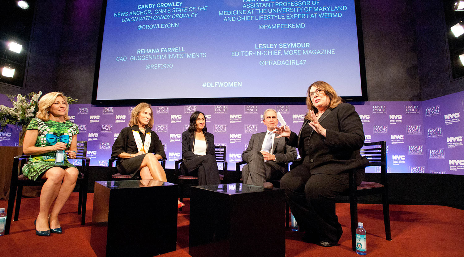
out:
{"label": "blonde woman in green patterned dress with blue bow, holding bottle", "polygon": [[[76,158],[79,133],[77,125],[69,121],[68,110],[67,98],[62,93],[45,94],[24,138],[23,152],[30,157],[23,174],[32,180],[46,179],[40,192],[39,216],[34,221],[38,236],[62,232],[58,213],[74,190],[79,174],[76,166],[67,160]],[[55,163],[57,150],[65,150],[63,163]]]}

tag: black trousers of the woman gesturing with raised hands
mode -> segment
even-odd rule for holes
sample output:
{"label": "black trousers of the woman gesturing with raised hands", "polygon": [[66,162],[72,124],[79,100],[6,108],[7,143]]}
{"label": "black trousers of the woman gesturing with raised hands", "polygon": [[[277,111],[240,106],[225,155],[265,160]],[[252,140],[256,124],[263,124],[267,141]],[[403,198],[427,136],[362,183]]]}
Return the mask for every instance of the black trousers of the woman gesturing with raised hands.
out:
{"label": "black trousers of the woman gesturing with raised hands", "polygon": [[[363,174],[358,176],[361,184]],[[342,237],[342,225],[335,214],[335,196],[348,190],[348,173],[314,174],[304,164],[286,173],[280,180],[285,197],[298,226],[308,238],[336,244]]]}

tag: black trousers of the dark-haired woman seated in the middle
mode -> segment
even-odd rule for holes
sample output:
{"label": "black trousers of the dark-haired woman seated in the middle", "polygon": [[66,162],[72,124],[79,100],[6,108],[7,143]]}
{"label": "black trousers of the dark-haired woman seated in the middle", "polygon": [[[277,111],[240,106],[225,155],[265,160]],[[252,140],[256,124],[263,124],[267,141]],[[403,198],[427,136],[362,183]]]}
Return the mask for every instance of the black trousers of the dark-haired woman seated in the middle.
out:
{"label": "black trousers of the dark-haired woman seated in the middle", "polygon": [[188,176],[198,176],[198,185],[219,185],[218,164],[213,155],[206,154],[191,160],[184,160],[182,168]]}

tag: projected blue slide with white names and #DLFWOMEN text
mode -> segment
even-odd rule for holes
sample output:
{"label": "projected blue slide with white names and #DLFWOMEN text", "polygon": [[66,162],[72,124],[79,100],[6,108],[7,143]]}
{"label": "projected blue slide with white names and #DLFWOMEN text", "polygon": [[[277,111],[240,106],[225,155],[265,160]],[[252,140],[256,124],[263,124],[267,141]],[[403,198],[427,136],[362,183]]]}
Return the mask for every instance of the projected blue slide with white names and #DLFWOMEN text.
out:
{"label": "projected blue slide with white names and #DLFWOMEN text", "polygon": [[354,0],[108,0],[97,100],[361,96]]}

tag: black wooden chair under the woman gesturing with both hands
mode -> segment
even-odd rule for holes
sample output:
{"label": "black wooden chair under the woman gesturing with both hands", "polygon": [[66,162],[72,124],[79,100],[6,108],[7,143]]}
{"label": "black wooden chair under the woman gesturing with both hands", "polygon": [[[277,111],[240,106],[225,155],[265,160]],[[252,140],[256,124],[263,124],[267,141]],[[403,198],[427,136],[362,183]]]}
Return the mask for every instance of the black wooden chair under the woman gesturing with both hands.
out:
{"label": "black wooden chair under the woman gesturing with both hands", "polygon": [[388,204],[387,187],[387,146],[385,141],[366,143],[361,148],[361,155],[369,160],[368,166],[380,167],[380,183],[361,182],[356,186],[356,172],[349,174],[349,206],[351,216],[351,241],[353,250],[356,250],[356,228],[358,227],[358,196],[382,194],[383,221],[385,224],[385,237],[392,240],[390,233],[390,211]]}

